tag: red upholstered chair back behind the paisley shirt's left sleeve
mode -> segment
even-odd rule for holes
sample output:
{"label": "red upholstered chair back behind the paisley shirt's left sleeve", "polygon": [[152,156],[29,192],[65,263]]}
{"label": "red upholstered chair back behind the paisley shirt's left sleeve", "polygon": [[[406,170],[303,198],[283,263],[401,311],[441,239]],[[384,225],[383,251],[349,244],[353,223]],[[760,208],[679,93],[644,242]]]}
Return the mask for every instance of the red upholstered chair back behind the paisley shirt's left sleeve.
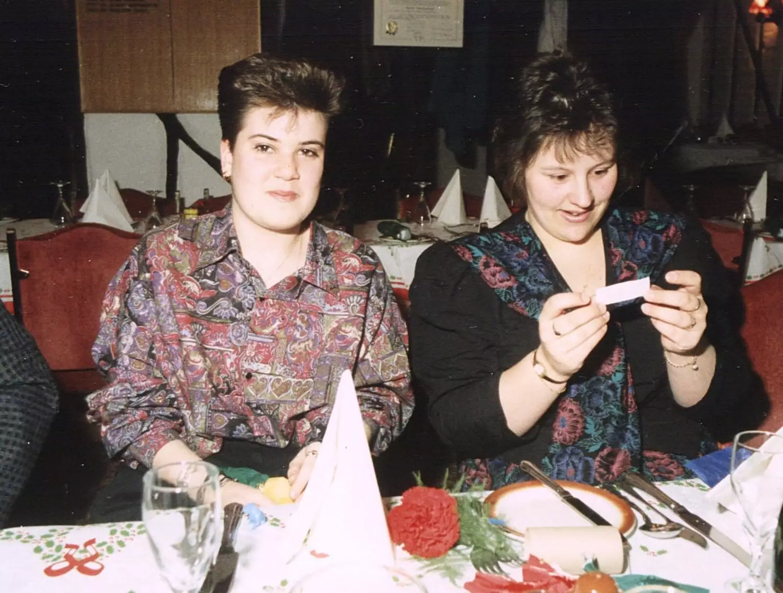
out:
{"label": "red upholstered chair back behind the paisley shirt's left sleeve", "polygon": [[103,385],[92,361],[103,296],[139,236],[105,225],[71,225],[18,239],[7,232],[13,307],[63,393]]}

